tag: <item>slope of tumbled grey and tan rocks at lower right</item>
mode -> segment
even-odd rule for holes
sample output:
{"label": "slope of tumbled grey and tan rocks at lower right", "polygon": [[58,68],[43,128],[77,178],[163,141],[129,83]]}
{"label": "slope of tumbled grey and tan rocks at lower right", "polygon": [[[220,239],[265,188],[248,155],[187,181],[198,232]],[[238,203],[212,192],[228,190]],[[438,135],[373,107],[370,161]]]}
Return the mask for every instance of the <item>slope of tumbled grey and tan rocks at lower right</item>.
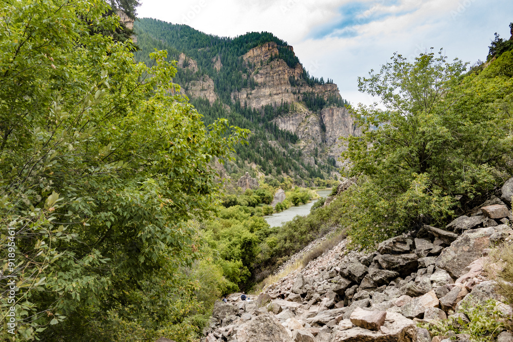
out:
{"label": "slope of tumbled grey and tan rocks at lower right", "polygon": [[[490,246],[512,240],[511,192],[513,178],[502,198],[492,197],[446,230],[424,226],[372,253],[347,251],[344,240],[255,300],[233,294],[228,303],[217,302],[203,341],[469,341],[465,334],[430,336],[417,324],[468,320],[464,307],[490,298],[511,314],[483,274]],[[498,341],[511,339],[503,332]]]}

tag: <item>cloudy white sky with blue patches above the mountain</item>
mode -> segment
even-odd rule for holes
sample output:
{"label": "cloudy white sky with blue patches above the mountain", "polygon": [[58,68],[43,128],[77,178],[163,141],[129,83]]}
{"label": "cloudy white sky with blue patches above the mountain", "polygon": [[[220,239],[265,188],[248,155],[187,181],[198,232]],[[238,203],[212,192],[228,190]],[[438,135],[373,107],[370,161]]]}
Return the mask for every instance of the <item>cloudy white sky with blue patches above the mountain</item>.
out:
{"label": "cloudy white sky with blue patches above the mountain", "polygon": [[267,31],[293,46],[315,77],[332,78],[352,104],[373,102],[358,77],[398,52],[413,61],[444,49],[470,65],[484,61],[497,32],[509,38],[512,0],[140,0],[138,17],[235,37]]}

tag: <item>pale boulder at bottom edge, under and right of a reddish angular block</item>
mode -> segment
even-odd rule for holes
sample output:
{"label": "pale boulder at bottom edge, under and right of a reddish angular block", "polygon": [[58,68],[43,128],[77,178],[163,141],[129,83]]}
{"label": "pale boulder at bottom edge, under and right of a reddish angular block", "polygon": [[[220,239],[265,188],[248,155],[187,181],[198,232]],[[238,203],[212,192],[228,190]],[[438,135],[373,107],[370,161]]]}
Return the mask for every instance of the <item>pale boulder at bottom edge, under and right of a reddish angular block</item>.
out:
{"label": "pale boulder at bottom edge, under and right of a reddish angular block", "polygon": [[333,332],[331,342],[392,342],[416,341],[417,327],[411,319],[396,312],[387,312],[384,325],[380,331],[371,331],[361,327],[337,329]]}

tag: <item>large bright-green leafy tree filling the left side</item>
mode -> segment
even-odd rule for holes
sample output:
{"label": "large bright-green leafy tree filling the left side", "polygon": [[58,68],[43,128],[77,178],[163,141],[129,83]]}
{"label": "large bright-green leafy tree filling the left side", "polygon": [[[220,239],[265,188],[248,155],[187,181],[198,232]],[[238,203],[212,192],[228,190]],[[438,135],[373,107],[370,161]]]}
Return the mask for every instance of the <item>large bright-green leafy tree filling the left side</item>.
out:
{"label": "large bright-green leafy tree filling the left side", "polygon": [[[211,215],[222,184],[210,162],[247,134],[224,119],[207,129],[173,95],[165,52],[150,69],[130,43],[90,34],[119,26],[106,11],[99,0],[0,5],[0,306],[4,327],[15,308],[17,338],[119,340],[92,335],[102,321],[179,327],[198,309],[195,285],[173,280],[199,256],[187,222]],[[145,319],[159,304],[141,295],[158,284],[178,311]],[[124,310],[141,303],[139,317]]]}

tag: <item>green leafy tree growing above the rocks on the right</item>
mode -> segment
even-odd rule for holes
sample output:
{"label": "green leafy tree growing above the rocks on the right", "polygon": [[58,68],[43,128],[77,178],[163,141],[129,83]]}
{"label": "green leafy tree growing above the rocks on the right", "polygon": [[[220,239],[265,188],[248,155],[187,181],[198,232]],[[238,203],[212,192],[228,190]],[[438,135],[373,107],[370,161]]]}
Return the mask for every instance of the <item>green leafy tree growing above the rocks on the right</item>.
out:
{"label": "green leafy tree growing above the rocks on the right", "polygon": [[359,78],[360,91],[380,97],[381,106],[354,111],[363,136],[349,137],[343,153],[351,162],[346,175],[359,177],[343,196],[346,217],[363,245],[443,224],[511,173],[510,78],[462,80],[465,64],[449,63],[442,51],[413,63],[391,59]]}

